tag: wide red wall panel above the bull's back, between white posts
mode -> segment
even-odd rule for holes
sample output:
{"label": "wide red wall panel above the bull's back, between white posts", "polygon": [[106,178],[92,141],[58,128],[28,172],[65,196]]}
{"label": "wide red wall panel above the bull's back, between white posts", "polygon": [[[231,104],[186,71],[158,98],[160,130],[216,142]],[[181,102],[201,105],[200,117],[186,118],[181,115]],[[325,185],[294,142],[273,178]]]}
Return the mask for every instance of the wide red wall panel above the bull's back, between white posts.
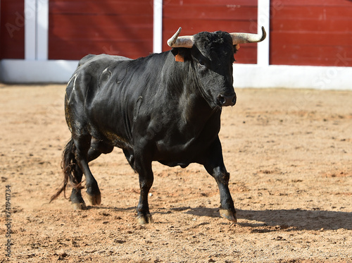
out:
{"label": "wide red wall panel above the bull's back, between white posts", "polygon": [[49,59],[111,54],[137,59],[153,51],[153,6],[138,1],[53,0]]}

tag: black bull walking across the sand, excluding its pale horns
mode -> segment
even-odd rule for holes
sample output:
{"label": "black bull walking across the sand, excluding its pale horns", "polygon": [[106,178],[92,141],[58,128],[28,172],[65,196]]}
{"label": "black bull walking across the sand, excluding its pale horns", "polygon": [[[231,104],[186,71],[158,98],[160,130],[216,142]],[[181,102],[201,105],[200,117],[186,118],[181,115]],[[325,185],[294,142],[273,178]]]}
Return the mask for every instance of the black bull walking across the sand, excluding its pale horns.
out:
{"label": "black bull walking across the sand, excluding its pale horns", "polygon": [[76,209],[85,209],[80,186],[84,174],[89,201],[100,204],[101,192],[88,163],[119,147],[139,174],[139,224],[152,221],[152,161],[182,168],[202,164],[218,183],[220,215],[237,221],[218,137],[222,106],[236,102],[236,48],[227,32],[193,37],[191,47],[136,60],[103,54],[80,61],[65,94],[72,137],[63,152],[64,183],[51,200],[70,181],[70,201]]}

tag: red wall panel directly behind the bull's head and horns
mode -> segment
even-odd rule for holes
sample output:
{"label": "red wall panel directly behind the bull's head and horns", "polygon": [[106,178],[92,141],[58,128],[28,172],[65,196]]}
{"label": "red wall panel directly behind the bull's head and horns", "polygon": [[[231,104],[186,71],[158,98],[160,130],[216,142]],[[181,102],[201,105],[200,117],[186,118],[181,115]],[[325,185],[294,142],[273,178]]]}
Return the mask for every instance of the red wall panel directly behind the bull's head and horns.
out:
{"label": "red wall panel directly behind the bull's head and horns", "polygon": [[[181,35],[198,32],[257,32],[257,1],[244,0],[187,0],[163,3],[163,50],[169,37],[182,27]],[[242,44],[235,55],[238,63],[256,63],[256,44]]]}

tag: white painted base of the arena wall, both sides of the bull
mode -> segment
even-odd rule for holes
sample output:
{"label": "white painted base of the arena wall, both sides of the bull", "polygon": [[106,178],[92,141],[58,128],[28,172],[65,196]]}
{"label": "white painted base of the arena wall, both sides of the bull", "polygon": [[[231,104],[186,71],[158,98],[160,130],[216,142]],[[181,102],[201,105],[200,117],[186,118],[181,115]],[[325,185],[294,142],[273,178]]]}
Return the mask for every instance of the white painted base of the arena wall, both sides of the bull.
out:
{"label": "white painted base of the arena wall, both sides of the bull", "polygon": [[[78,61],[0,61],[0,81],[7,83],[65,83]],[[352,67],[258,66],[234,64],[234,87],[289,87],[352,90]]]}

